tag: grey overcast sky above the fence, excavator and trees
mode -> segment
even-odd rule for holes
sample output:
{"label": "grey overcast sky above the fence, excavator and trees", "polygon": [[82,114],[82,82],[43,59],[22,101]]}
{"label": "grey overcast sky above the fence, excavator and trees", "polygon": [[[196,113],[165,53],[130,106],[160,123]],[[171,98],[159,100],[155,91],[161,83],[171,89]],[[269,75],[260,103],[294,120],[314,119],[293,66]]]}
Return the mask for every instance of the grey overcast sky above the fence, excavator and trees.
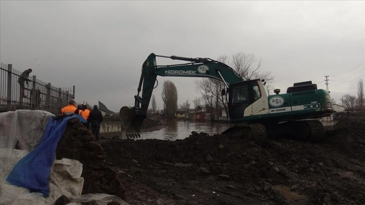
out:
{"label": "grey overcast sky above the fence, excavator and trees", "polygon": [[[32,68],[56,87],[75,85],[76,101],[101,100],[115,112],[134,105],[150,53],[252,53],[282,92],[307,80],[326,89],[329,75],[337,100],[357,96],[365,78],[365,1],[0,1],[0,23],[2,63]],[[157,79],[159,109],[164,80],[175,83],[178,105],[199,96],[199,78]]]}

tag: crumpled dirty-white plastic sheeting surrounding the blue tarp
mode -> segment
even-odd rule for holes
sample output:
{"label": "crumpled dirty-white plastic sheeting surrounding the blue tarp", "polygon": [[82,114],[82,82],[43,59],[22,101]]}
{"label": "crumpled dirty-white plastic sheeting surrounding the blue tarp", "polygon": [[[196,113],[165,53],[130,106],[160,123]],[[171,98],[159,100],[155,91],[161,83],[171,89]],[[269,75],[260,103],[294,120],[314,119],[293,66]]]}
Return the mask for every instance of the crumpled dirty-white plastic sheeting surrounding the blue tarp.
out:
{"label": "crumpled dirty-white plastic sheeting surrounding the blue tarp", "polygon": [[[80,195],[83,187],[82,164],[77,160],[54,160],[50,173],[50,194],[31,193],[27,188],[6,181],[15,164],[38,146],[48,119],[54,117],[46,111],[17,110],[0,114],[0,204],[54,204],[61,195],[72,203],[96,201],[100,205],[112,201],[128,204],[117,196],[95,193]],[[18,148],[14,149],[18,142]]]}

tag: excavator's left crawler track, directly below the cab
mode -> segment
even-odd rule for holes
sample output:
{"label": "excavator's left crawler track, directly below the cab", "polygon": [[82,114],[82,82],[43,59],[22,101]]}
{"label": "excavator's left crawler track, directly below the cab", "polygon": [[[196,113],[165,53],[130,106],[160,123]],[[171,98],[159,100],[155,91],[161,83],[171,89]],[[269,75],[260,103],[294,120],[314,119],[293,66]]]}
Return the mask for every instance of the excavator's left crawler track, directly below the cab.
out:
{"label": "excavator's left crawler track, directly below the cab", "polygon": [[261,124],[233,126],[222,132],[222,135],[227,135],[232,139],[254,142],[262,142],[267,139],[266,129]]}

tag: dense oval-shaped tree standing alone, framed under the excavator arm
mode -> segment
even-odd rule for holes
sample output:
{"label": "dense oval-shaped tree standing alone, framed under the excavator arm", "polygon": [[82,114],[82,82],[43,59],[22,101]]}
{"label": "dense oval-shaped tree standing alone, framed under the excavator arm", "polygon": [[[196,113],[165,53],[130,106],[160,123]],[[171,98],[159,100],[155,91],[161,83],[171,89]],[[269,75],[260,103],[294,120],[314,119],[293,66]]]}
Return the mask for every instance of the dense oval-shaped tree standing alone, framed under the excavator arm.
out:
{"label": "dense oval-shaped tree standing alone, framed under the excavator arm", "polygon": [[168,118],[173,118],[177,109],[177,89],[173,82],[165,80],[161,93],[163,109]]}

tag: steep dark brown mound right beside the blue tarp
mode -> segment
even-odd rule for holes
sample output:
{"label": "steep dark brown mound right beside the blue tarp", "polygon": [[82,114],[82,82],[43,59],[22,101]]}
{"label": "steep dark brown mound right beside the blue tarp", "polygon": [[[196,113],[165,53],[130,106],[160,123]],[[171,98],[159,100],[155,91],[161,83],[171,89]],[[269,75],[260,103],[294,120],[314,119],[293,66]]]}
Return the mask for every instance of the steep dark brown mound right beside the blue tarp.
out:
{"label": "steep dark brown mound right beside the blue tarp", "polygon": [[125,198],[116,173],[105,164],[106,153],[94,135],[78,119],[68,122],[56,149],[56,159],[69,158],[82,163],[82,194],[107,193]]}

